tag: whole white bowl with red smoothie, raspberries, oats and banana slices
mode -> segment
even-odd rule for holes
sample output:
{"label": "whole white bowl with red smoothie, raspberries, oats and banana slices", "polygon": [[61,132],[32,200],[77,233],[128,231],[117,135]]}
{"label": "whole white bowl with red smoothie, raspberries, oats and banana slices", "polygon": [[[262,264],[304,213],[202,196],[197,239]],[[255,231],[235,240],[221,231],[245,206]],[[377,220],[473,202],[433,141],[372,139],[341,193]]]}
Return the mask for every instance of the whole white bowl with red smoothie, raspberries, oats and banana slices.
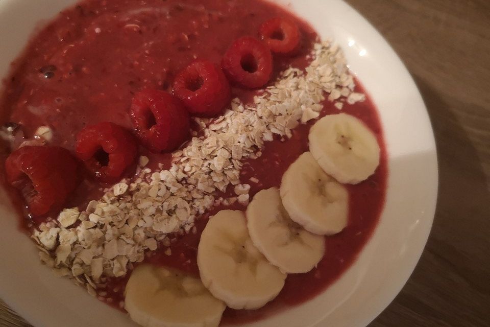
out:
{"label": "whole white bowl with red smoothie, raspberries, oats and banana slices", "polygon": [[362,326],[422,252],[435,146],[342,2],[0,4],[0,296],[36,326]]}

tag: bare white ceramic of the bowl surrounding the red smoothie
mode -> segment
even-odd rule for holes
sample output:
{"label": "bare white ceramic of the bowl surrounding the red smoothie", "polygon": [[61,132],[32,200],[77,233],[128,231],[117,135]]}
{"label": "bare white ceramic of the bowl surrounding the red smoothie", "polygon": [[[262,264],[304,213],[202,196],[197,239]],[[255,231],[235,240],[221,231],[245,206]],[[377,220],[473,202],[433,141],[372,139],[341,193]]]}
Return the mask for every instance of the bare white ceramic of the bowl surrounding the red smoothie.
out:
{"label": "bare white ceramic of the bowl surrounding the red smoothie", "polygon": [[[76,0],[0,1],[0,76],[42,21]],[[341,0],[284,0],[322,38],[345,51],[376,104],[389,157],[386,205],[359,259],[323,294],[247,326],[363,327],[401,290],[420,258],[434,216],[437,159],[426,108],[403,63],[378,32]],[[135,326],[129,318],[41,266],[0,190],[0,298],[36,327]]]}

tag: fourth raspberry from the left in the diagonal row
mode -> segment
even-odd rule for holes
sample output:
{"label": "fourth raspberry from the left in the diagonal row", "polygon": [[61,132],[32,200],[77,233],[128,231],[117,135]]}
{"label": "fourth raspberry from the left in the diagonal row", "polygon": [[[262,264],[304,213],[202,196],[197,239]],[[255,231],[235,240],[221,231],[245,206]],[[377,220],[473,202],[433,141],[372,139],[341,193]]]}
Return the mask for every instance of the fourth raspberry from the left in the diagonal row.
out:
{"label": "fourth raspberry from the left in the diagonal row", "polygon": [[220,67],[206,60],[195,60],[181,71],[173,93],[191,115],[213,117],[231,100],[230,84]]}

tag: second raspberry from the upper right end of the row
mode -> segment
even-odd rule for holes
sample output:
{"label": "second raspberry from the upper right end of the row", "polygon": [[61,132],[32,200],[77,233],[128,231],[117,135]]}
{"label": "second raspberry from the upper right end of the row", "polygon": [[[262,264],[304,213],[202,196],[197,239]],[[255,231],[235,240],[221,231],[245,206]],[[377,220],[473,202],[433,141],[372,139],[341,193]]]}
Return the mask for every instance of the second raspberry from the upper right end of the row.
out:
{"label": "second raspberry from the upper right end of the row", "polygon": [[264,86],[272,73],[272,54],[261,41],[237,39],[225,53],[222,67],[230,80],[248,88]]}

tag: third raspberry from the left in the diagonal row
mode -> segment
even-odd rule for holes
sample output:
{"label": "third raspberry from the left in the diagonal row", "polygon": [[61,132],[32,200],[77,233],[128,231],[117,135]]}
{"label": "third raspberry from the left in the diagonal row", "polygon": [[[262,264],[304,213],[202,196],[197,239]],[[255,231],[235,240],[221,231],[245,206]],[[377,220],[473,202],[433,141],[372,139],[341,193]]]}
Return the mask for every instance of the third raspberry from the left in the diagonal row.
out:
{"label": "third raspberry from the left in the diagonal row", "polygon": [[178,98],[165,91],[138,92],[130,115],[141,142],[152,152],[173,151],[189,137],[189,113]]}

